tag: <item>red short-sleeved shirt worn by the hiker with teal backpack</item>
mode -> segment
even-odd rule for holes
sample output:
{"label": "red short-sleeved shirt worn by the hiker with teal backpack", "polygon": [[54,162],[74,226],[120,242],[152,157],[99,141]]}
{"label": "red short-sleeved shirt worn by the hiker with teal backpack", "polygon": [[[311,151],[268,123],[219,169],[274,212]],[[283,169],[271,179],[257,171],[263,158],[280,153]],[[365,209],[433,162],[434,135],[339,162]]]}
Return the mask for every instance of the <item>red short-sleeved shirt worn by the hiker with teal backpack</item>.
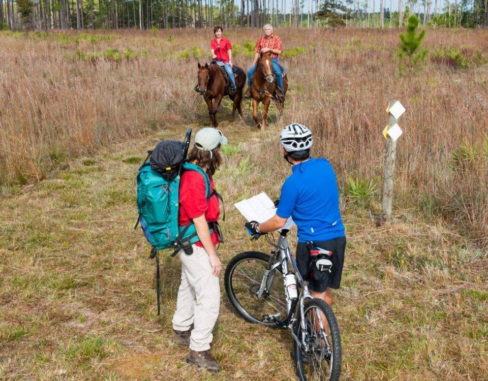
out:
{"label": "red short-sleeved shirt worn by the hiker with teal backpack", "polygon": [[[214,192],[214,179],[210,179],[210,192]],[[179,184],[179,226],[186,226],[192,222],[192,218],[196,218],[205,213],[207,222],[215,222],[219,220],[220,205],[217,196],[210,197],[207,203],[207,195],[205,193],[205,180],[203,176],[195,171],[185,171],[181,175]],[[216,246],[219,243],[219,236],[216,232],[210,235],[212,243]],[[202,243],[198,241],[197,246],[203,247]]]}

